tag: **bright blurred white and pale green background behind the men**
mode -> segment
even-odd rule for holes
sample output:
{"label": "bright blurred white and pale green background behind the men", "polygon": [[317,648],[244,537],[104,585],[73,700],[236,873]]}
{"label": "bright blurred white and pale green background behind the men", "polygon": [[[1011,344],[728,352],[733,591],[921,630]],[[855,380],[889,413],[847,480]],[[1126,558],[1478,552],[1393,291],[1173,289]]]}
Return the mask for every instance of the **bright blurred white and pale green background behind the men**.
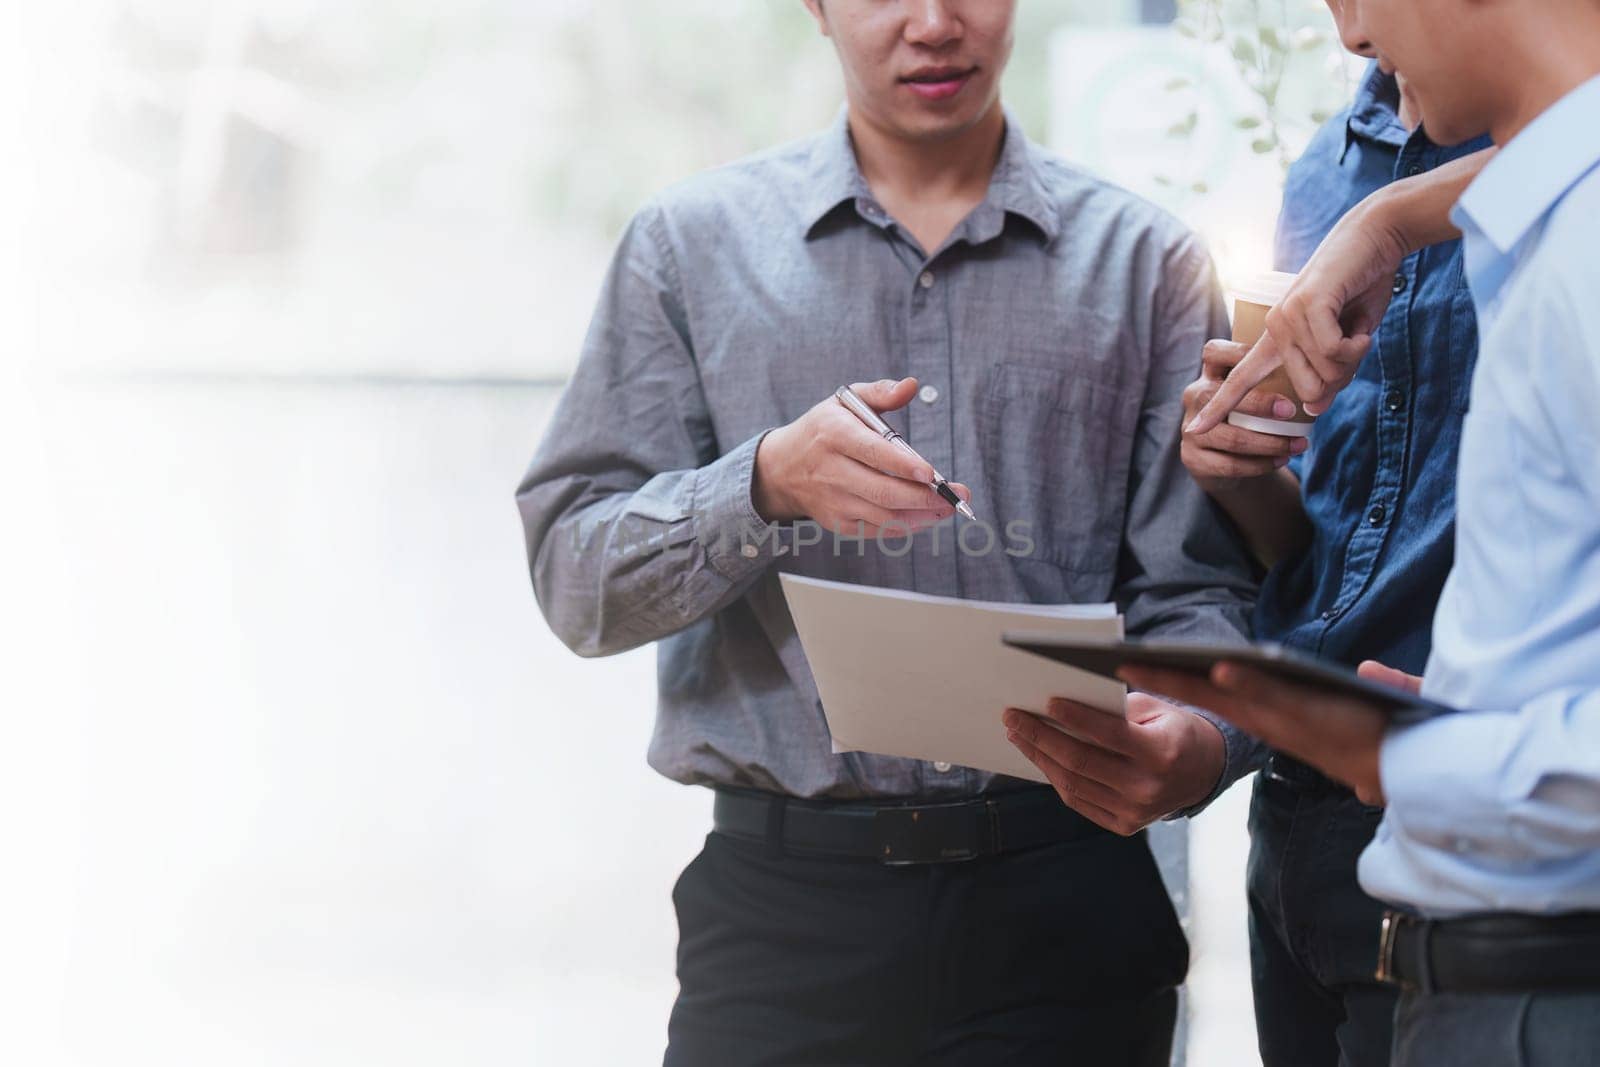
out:
{"label": "bright blurred white and pale green background behind the men", "polygon": [[[1358,74],[1325,5],[1018,8],[1029,133],[1269,267]],[[830,46],[800,0],[14,19],[11,1062],[659,1057],[709,803],[645,766],[651,651],[544,627],[510,494],[627,218],[826,125]],[[1254,1056],[1242,797],[1195,824],[1192,1064]]]}

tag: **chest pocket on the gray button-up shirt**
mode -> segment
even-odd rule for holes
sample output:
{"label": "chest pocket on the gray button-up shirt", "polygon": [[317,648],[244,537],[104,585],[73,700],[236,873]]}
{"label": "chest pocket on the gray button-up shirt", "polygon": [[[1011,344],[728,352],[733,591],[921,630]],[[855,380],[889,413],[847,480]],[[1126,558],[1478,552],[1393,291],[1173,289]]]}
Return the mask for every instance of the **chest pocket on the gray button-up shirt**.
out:
{"label": "chest pocket on the gray button-up shirt", "polygon": [[1030,542],[1019,563],[1090,579],[1069,582],[1074,590],[1110,587],[1138,408],[1136,395],[1070,368],[994,366],[984,390],[984,477],[1008,542]]}

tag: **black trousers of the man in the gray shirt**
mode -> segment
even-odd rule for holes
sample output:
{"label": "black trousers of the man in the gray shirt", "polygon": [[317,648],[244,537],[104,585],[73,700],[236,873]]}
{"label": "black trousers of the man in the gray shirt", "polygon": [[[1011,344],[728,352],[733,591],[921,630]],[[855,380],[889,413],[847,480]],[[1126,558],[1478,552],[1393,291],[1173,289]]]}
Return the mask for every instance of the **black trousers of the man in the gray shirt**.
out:
{"label": "black trousers of the man in the gray shirt", "polygon": [[1189,966],[1144,835],[922,867],[720,833],[672,893],[667,1067],[1166,1067]]}

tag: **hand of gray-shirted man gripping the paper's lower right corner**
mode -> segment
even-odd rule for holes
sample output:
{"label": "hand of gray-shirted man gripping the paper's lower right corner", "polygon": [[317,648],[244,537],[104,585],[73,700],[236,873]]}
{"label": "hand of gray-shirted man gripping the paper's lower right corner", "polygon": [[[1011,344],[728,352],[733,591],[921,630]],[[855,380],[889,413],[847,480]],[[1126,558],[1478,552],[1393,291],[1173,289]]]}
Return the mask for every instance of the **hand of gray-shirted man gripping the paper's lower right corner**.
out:
{"label": "hand of gray-shirted man gripping the paper's lower right corner", "polygon": [[1126,717],[1053,699],[1040,721],[1008,707],[1006,739],[1029,758],[1062,803],[1114,833],[1205,800],[1227,750],[1216,726],[1147,693],[1130,693]]}

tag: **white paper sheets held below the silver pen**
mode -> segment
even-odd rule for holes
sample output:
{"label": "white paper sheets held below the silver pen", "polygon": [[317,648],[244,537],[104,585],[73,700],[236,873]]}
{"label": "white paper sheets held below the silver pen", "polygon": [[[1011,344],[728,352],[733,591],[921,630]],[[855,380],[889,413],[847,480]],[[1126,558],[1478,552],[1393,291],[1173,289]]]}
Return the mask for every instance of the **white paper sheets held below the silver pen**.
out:
{"label": "white paper sheets held below the silver pen", "polygon": [[1006,630],[1120,638],[1115,605],[1016,605],[928,597],[782,574],[835,752],[944,761],[1035,782],[1005,739],[1006,707],[1064,696],[1120,715],[1117,681],[1006,648]]}

